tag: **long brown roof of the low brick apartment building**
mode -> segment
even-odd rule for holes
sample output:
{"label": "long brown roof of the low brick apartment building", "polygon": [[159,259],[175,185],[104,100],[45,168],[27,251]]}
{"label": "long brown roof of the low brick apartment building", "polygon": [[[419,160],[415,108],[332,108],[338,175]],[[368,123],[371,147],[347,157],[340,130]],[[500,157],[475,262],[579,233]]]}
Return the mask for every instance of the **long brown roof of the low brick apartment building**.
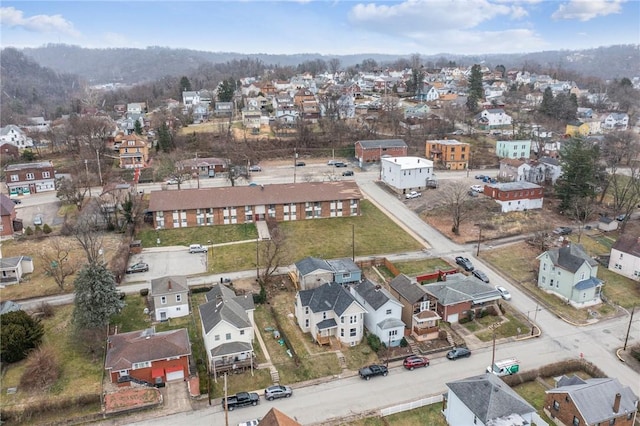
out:
{"label": "long brown roof of the low brick apartment building", "polygon": [[362,199],[362,193],[355,181],[274,183],[152,191],[149,196],[148,210],[156,212],[360,199]]}

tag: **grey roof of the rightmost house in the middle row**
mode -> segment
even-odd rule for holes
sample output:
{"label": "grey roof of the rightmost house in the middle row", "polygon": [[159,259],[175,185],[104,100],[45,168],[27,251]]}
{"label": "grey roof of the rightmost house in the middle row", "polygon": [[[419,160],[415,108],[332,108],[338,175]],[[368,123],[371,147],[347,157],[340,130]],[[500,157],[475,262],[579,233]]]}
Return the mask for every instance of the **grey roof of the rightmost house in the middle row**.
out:
{"label": "grey roof of the rightmost house in the middle row", "polygon": [[447,275],[447,280],[423,286],[424,290],[438,299],[444,306],[460,302],[488,302],[502,298],[500,292],[474,276],[464,274]]}

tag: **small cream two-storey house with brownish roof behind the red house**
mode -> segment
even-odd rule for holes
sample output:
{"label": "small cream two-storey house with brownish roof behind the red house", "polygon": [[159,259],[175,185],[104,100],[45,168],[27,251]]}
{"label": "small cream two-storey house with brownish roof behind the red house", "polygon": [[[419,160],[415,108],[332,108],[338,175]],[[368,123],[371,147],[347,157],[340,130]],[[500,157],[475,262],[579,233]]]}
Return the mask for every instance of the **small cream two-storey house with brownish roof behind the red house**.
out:
{"label": "small cream two-storey house with brownish roof behind the red house", "polygon": [[156,321],[189,315],[189,286],[186,276],[161,277],[151,280]]}

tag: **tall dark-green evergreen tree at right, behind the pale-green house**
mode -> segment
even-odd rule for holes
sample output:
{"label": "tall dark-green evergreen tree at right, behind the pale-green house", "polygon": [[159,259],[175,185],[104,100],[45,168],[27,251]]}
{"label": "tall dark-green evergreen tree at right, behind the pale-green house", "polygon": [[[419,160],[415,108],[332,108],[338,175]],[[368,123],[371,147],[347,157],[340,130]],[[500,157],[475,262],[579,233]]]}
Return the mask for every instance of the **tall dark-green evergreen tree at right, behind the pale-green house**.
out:
{"label": "tall dark-green evergreen tree at right, behind the pale-green house", "polygon": [[571,208],[575,200],[594,199],[604,178],[599,158],[599,146],[582,138],[572,138],[562,144],[562,177],[556,183],[561,211]]}

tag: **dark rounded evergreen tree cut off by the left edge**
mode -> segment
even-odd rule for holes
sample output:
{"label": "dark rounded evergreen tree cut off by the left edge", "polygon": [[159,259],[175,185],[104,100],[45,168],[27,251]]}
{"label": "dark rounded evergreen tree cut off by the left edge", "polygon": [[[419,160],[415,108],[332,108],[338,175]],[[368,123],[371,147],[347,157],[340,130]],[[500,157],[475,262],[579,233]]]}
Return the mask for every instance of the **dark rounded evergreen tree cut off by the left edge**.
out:
{"label": "dark rounded evergreen tree cut off by the left edge", "polygon": [[42,342],[44,327],[39,319],[25,311],[8,312],[0,316],[0,360],[16,362],[27,357],[31,349]]}

